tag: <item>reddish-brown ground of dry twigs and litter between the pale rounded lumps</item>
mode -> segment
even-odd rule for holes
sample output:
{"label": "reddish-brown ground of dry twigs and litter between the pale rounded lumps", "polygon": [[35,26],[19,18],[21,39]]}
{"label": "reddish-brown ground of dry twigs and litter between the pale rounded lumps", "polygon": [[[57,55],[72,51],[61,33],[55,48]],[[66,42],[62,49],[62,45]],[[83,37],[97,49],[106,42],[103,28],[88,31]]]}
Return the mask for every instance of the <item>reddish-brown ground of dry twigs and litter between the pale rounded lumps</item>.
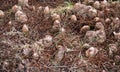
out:
{"label": "reddish-brown ground of dry twigs and litter between the pale rounded lumps", "polygon": [[[55,8],[63,4],[63,1],[56,1],[43,3],[39,0],[31,0],[29,4],[35,5],[36,8],[41,5]],[[52,31],[53,21],[51,17],[46,18],[43,12],[36,13],[37,10],[24,8],[29,18],[26,24],[30,29],[29,34],[25,35],[21,34],[23,24],[15,21],[14,13],[9,12],[14,4],[17,4],[17,0],[0,0],[0,10],[5,11],[5,17],[0,20],[0,72],[104,72],[103,70],[105,72],[120,72],[120,41],[115,39],[112,33],[113,31],[119,32],[120,27],[113,29],[104,23],[107,39],[101,44],[90,43],[91,46],[100,51],[95,57],[87,58],[85,56],[86,49],[82,48],[86,42],[84,41],[85,34],[80,32],[80,28],[84,24],[90,24],[91,30],[95,30],[94,25],[92,25],[95,24],[93,19],[83,19],[77,16],[78,20],[74,23],[68,18],[72,14],[71,12],[64,16],[61,15],[62,24],[68,24],[65,26],[64,37],[59,37],[59,32]],[[105,13],[103,19],[116,16],[120,18],[120,4],[110,6],[110,9],[110,13],[103,10]],[[12,25],[8,25],[10,20]],[[13,27],[20,33],[15,33]],[[12,31],[15,34],[9,34]],[[46,34],[53,36],[53,45],[45,47],[44,50],[37,50],[34,44],[44,38]],[[78,44],[74,45],[72,44],[73,41],[81,44],[79,46],[77,46]],[[117,51],[113,56],[110,56],[108,45],[112,43],[117,44]],[[55,54],[58,52],[57,45],[72,48],[73,51],[65,52],[63,59],[59,63],[54,63]],[[32,49],[28,56],[23,54],[25,48]],[[37,59],[33,57],[34,53],[40,53]]]}

